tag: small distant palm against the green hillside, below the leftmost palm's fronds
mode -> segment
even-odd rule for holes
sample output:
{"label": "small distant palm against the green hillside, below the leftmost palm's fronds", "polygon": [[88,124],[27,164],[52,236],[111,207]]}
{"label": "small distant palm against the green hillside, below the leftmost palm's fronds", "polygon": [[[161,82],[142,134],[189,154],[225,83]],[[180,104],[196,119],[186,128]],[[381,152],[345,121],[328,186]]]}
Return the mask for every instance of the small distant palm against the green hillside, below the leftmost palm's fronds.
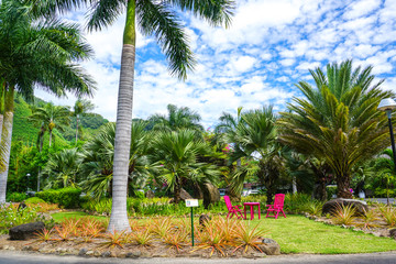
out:
{"label": "small distant palm against the green hillside, below the leftmost palm's fronds", "polygon": [[29,119],[41,123],[45,130],[48,130],[51,147],[54,129],[65,131],[65,127],[70,123],[70,111],[68,107],[54,106],[52,102],[48,102],[43,108],[34,109]]}

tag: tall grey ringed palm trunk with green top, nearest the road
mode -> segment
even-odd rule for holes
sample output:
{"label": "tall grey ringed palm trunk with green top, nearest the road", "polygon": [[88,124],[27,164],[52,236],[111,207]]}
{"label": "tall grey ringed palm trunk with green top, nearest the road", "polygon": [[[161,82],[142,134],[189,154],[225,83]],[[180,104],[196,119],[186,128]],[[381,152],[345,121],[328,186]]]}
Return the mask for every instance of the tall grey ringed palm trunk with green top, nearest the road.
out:
{"label": "tall grey ringed palm trunk with green top, nearest the road", "polygon": [[128,168],[131,146],[133,79],[135,63],[135,0],[127,6],[121,55],[113,160],[112,206],[108,231],[131,231],[127,213]]}

